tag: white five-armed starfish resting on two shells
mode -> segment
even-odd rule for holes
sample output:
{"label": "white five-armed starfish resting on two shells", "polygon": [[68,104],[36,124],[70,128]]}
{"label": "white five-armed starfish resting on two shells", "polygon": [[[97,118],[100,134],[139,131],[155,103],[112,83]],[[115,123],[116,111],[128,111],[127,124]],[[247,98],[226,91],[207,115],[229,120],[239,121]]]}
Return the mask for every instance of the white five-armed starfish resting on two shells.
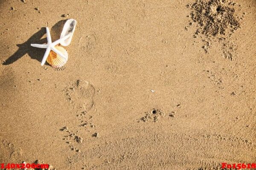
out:
{"label": "white five-armed starfish resting on two shells", "polygon": [[47,44],[31,44],[32,47],[37,47],[37,48],[47,48],[45,53],[44,53],[44,57],[42,59],[41,65],[44,65],[47,57],[49,56],[50,51],[54,51],[56,54],[58,54],[60,57],[62,58],[66,58],[66,56],[61,53],[61,51],[58,51],[58,49],[55,48],[55,46],[59,43],[61,43],[62,41],[66,40],[68,37],[70,37],[70,34],[66,35],[65,37],[62,37],[61,39],[58,39],[55,42],[52,42],[52,38],[51,38],[51,34],[49,31],[49,28],[46,27],[46,35],[47,35]]}

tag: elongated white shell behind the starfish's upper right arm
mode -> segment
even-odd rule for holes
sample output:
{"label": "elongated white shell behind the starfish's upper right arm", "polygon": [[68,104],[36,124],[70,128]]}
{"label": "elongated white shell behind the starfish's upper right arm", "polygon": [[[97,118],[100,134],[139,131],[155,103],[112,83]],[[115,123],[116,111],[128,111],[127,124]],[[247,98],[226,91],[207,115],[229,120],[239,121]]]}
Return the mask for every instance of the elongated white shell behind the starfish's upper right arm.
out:
{"label": "elongated white shell behind the starfish's upper right arm", "polygon": [[66,23],[64,24],[63,30],[61,32],[61,38],[65,37],[68,34],[70,34],[70,37],[67,38],[66,40],[62,41],[61,45],[63,45],[63,46],[70,45],[75,28],[76,28],[76,20],[69,19],[66,21]]}

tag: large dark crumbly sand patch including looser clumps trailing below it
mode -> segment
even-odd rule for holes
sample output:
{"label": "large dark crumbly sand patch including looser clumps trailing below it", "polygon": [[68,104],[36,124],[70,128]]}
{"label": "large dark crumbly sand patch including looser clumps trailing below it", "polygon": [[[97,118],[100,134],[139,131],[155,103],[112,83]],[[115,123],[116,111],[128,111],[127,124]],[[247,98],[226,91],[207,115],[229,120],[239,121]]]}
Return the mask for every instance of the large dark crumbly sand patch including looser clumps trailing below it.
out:
{"label": "large dark crumbly sand patch including looser clumps trailing below it", "polygon": [[[214,48],[213,46],[219,46],[223,57],[230,61],[235,59],[237,45],[232,35],[241,28],[246,14],[245,12],[241,14],[241,5],[227,0],[196,0],[195,3],[188,4],[186,7],[191,10],[188,17],[191,17],[192,22],[185,28],[187,30],[192,27],[193,22],[196,23],[193,37],[201,38],[205,53]],[[239,14],[236,10],[240,11]]]}

